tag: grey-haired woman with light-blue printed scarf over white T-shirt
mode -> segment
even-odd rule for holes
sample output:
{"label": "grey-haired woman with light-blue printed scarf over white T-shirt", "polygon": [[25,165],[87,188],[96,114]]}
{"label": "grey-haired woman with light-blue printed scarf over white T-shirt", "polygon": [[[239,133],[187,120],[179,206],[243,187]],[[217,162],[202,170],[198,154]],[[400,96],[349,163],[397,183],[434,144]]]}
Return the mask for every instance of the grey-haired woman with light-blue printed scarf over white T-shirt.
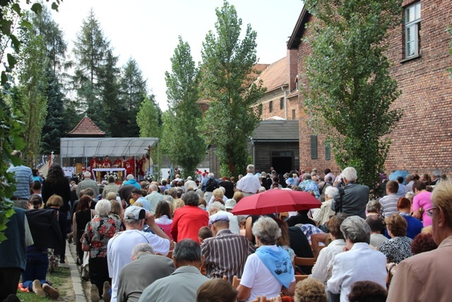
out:
{"label": "grey-haired woman with light-blue printed scarf over white T-shirt", "polygon": [[256,296],[275,297],[295,294],[295,276],[289,254],[276,245],[281,236],[278,223],[261,217],[254,223],[253,234],[258,249],[246,259],[242,279],[237,287],[239,300],[251,301]]}

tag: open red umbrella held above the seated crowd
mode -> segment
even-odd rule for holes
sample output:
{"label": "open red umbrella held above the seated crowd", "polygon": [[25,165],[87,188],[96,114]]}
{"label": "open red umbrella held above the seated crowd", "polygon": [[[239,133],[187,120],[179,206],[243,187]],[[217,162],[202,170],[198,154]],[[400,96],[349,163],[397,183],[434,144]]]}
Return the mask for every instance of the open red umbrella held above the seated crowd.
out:
{"label": "open red umbrella held above the seated crowd", "polygon": [[232,214],[264,215],[315,209],[320,206],[321,202],[308,192],[273,189],[240,199],[232,209]]}

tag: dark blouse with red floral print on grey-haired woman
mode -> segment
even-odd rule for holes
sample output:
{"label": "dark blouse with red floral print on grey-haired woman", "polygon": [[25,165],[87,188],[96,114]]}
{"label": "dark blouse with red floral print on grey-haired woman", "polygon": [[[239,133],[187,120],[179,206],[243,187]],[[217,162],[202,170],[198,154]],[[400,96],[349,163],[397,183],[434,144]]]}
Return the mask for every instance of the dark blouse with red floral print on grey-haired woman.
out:
{"label": "dark blouse with red floral print on grey-haired woman", "polygon": [[124,230],[115,216],[94,216],[85,227],[82,241],[90,245],[90,258],[107,257],[108,240],[120,231]]}

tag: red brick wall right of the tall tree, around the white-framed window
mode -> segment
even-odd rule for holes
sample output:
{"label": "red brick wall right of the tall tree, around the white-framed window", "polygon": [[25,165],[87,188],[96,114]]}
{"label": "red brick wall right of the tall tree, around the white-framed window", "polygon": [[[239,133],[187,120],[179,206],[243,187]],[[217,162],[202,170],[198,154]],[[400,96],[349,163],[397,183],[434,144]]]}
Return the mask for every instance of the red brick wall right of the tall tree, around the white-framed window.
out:
{"label": "red brick wall right of the tall tree, around the white-framed window", "polygon": [[[405,5],[415,1],[404,1]],[[412,173],[452,169],[452,66],[449,52],[452,1],[421,1],[421,57],[403,59],[403,26],[393,31],[388,49],[394,66],[391,76],[403,92],[394,108],[404,110],[391,138],[386,170],[406,169]]]}

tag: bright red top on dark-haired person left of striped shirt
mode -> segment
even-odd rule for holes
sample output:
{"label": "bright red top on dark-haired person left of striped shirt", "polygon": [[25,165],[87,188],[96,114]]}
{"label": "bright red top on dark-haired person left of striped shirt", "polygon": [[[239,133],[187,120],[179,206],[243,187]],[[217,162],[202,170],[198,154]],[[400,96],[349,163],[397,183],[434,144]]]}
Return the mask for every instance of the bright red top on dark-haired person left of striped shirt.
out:
{"label": "bright red top on dark-haired person left of striped shirt", "polygon": [[203,226],[208,226],[209,216],[207,211],[197,206],[185,206],[174,211],[172,219],[172,238],[179,242],[190,238],[199,243],[198,231]]}

